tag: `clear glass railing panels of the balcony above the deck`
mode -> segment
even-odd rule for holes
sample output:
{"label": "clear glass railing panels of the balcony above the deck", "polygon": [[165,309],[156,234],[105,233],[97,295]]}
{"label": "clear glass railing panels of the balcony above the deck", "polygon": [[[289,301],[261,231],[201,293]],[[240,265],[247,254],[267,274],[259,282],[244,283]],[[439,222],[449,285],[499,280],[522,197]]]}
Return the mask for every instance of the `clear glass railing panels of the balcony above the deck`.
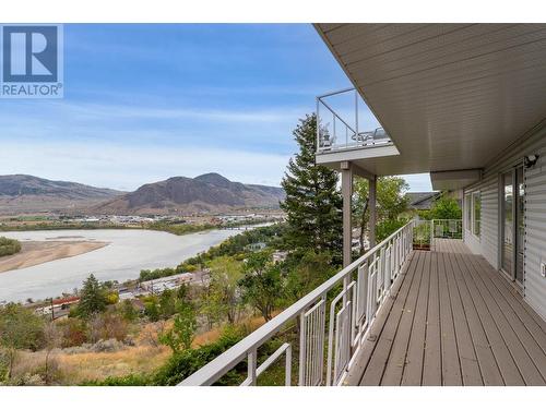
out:
{"label": "clear glass railing panels of the balcony above the deck", "polygon": [[317,153],[392,144],[355,88],[317,97]]}

